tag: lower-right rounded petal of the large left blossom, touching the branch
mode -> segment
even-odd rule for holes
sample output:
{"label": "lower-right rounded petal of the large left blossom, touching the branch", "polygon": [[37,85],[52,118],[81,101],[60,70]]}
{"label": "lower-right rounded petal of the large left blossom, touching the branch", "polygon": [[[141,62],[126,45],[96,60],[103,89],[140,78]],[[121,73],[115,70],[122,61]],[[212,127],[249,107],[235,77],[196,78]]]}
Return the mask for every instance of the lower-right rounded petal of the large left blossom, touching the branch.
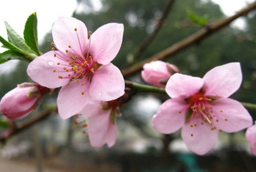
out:
{"label": "lower-right rounded petal of the large left blossom, touching the branch", "polygon": [[94,100],[115,100],[124,94],[124,79],[120,70],[112,63],[103,65],[94,73],[89,87]]}

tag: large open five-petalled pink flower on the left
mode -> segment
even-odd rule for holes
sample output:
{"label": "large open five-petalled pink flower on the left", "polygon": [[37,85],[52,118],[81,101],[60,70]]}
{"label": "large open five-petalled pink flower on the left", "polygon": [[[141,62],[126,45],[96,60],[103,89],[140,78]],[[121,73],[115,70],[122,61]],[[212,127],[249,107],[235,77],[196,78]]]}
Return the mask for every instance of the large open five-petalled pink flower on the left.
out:
{"label": "large open five-petalled pink flower on the left", "polygon": [[90,100],[124,94],[123,76],[111,63],[122,44],[123,24],[103,25],[88,39],[83,22],[60,17],[52,33],[55,48],[35,58],[27,73],[42,86],[62,86],[57,99],[61,118],[79,113]]}

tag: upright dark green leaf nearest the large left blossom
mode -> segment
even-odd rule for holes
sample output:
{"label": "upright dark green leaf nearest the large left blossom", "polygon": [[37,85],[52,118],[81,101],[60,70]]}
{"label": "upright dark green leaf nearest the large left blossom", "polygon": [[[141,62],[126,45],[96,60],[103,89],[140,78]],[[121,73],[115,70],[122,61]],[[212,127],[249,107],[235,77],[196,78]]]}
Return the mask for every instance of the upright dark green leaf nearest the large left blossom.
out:
{"label": "upright dark green leaf nearest the large left blossom", "polygon": [[23,34],[27,45],[39,56],[36,13],[31,14],[27,19]]}

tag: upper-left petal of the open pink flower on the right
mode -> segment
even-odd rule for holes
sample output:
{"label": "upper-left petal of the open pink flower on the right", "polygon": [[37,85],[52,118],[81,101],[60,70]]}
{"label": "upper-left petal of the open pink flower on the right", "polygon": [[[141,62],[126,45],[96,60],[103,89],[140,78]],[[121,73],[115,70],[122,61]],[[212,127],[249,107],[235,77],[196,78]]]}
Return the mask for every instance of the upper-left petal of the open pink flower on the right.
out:
{"label": "upper-left petal of the open pink flower on the right", "polygon": [[196,94],[203,86],[203,79],[175,73],[170,77],[165,87],[167,94],[172,97],[188,98]]}

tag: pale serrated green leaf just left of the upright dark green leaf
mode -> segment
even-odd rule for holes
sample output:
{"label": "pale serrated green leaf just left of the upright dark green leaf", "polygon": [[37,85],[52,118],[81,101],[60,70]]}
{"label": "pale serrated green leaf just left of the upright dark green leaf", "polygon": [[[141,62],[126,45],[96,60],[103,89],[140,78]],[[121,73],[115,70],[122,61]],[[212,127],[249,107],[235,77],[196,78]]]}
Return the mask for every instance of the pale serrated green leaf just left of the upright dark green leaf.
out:
{"label": "pale serrated green leaf just left of the upright dark green leaf", "polygon": [[24,50],[28,53],[34,53],[29,46],[25,43],[25,40],[20,37],[18,33],[15,32],[14,29],[5,21],[5,27],[8,35],[8,40],[10,43],[15,45],[16,47],[20,48],[21,50]]}

